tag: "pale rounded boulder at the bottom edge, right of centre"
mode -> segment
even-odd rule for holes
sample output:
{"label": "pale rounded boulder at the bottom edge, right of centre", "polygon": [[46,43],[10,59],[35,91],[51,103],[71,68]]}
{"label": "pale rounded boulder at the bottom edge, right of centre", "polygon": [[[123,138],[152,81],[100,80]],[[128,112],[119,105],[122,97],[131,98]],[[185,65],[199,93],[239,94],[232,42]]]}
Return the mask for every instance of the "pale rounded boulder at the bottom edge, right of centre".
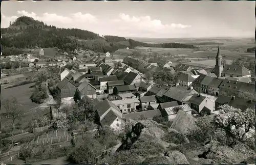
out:
{"label": "pale rounded boulder at the bottom edge, right of centre", "polygon": [[164,156],[168,156],[174,161],[174,164],[189,164],[186,156],[180,151],[167,151],[164,153]]}

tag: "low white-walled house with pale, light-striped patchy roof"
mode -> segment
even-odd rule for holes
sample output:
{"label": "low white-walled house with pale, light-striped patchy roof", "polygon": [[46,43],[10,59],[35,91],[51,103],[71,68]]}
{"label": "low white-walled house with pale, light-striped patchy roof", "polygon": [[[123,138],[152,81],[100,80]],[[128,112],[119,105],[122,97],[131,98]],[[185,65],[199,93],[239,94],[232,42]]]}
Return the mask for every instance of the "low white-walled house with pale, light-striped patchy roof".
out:
{"label": "low white-walled house with pale, light-striped patchy roof", "polygon": [[172,121],[176,118],[176,115],[180,111],[183,111],[191,115],[192,109],[188,104],[184,104],[184,105],[164,108],[163,111],[161,111],[161,114],[163,117],[168,118],[169,121]]}

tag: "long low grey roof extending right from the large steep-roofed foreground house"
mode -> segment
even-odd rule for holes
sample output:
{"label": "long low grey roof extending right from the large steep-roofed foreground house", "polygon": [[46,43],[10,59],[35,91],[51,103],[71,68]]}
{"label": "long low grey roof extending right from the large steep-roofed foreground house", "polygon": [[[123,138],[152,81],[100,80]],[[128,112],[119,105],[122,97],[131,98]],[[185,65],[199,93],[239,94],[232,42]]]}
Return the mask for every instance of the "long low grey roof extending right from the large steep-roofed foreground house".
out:
{"label": "long low grey roof extending right from the large steep-roofed foreground house", "polygon": [[123,115],[123,118],[125,118],[126,120],[128,119],[138,120],[141,115],[143,115],[147,119],[152,119],[155,116],[161,116],[161,112],[159,109],[154,109],[149,111],[136,112],[132,114],[125,114]]}

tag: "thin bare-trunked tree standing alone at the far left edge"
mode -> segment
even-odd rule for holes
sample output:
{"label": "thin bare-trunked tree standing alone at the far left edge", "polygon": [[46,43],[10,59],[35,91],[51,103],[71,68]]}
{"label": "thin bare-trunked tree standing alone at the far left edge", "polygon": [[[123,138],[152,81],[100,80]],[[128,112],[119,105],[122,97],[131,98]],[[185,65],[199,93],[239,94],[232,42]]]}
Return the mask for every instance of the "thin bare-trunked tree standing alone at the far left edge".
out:
{"label": "thin bare-trunked tree standing alone at the far left edge", "polygon": [[6,109],[6,113],[8,114],[8,117],[11,118],[11,134],[12,134],[12,144],[13,144],[13,131],[15,122],[22,116],[23,112],[22,109],[19,107],[19,104],[17,102],[17,99],[15,97],[11,99],[6,99],[4,101],[4,107]]}

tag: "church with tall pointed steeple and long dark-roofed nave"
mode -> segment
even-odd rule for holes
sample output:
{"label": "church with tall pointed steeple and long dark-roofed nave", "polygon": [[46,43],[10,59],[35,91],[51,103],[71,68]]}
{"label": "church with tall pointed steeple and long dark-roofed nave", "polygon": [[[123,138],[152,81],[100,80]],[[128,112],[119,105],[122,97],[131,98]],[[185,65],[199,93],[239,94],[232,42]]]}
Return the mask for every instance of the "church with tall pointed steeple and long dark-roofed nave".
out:
{"label": "church with tall pointed steeple and long dark-roofed nave", "polygon": [[251,77],[251,71],[244,66],[237,65],[223,65],[223,58],[221,56],[220,45],[216,56],[216,65],[212,70],[219,78],[225,77]]}

